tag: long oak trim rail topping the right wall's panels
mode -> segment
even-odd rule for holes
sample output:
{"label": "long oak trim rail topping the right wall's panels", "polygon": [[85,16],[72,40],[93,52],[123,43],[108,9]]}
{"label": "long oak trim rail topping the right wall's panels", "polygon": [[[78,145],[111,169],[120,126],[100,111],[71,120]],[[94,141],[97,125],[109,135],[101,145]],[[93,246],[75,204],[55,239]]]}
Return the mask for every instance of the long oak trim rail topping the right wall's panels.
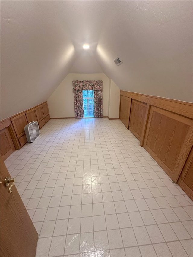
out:
{"label": "long oak trim rail topping the right wall's panels", "polygon": [[183,102],[179,100],[173,100],[169,98],[163,98],[158,96],[149,96],[138,94],[134,92],[127,92],[120,90],[121,96],[126,96],[144,103],[149,103],[150,105],[165,109],[167,111],[172,111],[174,113],[180,114],[182,116],[193,118],[193,103]]}

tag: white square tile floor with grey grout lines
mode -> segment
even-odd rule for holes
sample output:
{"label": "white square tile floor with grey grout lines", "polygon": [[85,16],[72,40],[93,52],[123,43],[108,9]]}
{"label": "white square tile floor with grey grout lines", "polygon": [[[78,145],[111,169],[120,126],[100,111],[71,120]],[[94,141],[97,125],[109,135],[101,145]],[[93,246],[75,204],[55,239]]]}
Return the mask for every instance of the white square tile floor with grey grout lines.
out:
{"label": "white square tile floor with grey grout lines", "polygon": [[36,256],[192,256],[192,201],[120,120],[50,120],[6,161]]}

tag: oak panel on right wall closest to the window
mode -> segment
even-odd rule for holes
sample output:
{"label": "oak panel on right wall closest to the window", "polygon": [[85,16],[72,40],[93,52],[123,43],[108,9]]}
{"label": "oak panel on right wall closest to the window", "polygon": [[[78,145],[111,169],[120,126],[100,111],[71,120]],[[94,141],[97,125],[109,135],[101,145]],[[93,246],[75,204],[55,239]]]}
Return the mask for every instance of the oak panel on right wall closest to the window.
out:
{"label": "oak panel on right wall closest to the window", "polygon": [[120,103],[120,120],[125,125],[125,127],[129,128],[129,116],[130,116],[130,109],[131,109],[131,98],[121,96],[121,103]]}

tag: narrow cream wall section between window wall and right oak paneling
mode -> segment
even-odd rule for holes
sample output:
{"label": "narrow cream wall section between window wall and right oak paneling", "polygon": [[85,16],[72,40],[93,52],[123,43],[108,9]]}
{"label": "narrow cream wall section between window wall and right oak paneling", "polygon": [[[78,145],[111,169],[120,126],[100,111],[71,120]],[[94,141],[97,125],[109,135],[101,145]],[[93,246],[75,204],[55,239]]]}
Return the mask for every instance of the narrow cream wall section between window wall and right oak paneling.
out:
{"label": "narrow cream wall section between window wall and right oak paneling", "polygon": [[120,89],[113,80],[109,82],[109,119],[119,118]]}

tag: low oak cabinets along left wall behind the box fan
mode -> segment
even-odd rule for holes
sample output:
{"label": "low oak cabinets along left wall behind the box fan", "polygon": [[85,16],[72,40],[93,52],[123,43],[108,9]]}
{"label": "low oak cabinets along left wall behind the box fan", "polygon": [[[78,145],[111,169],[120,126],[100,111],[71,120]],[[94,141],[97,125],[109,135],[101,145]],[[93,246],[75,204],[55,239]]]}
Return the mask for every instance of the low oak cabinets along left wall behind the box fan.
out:
{"label": "low oak cabinets along left wall behind the box fan", "polygon": [[47,102],[1,121],[1,156],[8,158],[27,143],[24,127],[37,121],[40,129],[50,120]]}

